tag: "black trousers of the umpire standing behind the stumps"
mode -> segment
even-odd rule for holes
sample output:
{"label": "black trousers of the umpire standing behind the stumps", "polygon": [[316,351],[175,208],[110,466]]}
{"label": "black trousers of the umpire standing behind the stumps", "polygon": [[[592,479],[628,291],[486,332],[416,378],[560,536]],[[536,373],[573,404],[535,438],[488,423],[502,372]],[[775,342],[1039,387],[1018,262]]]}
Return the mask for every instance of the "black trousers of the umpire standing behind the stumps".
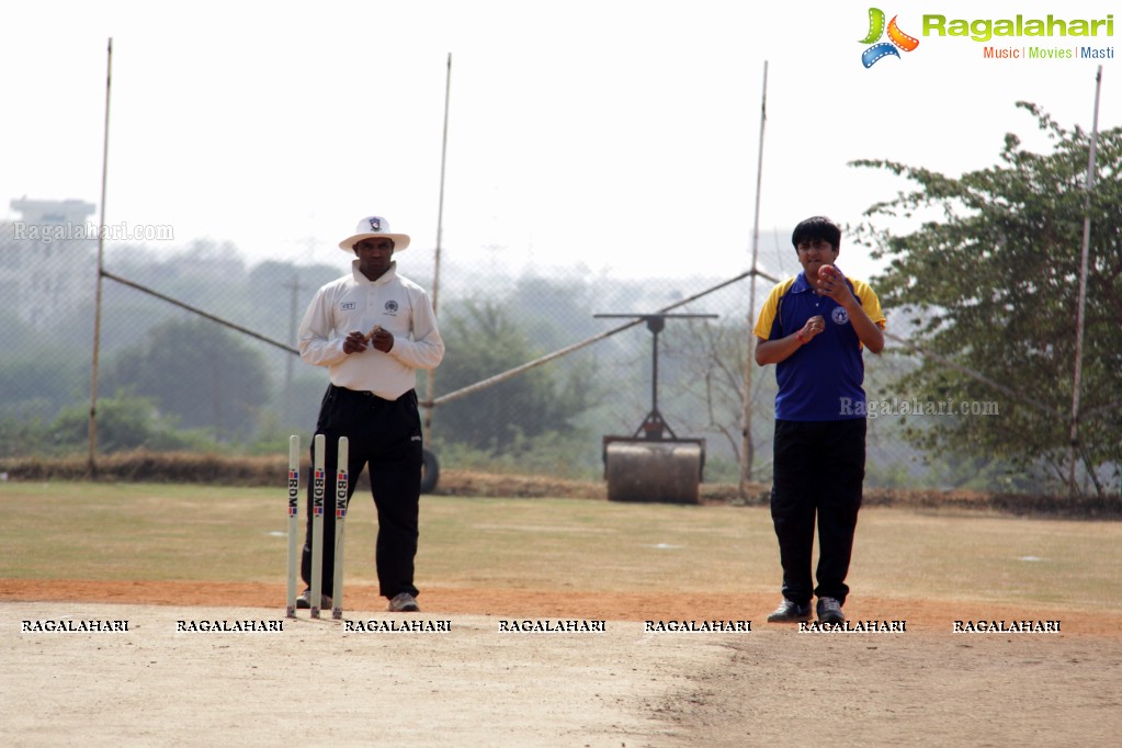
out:
{"label": "black trousers of the umpire standing behind the stumps", "polygon": [[[331,385],[323,396],[315,433],[327,437],[323,500],[323,575],[321,590],[332,594],[335,547],[334,477],[339,465],[339,437],[348,438],[347,472],[350,484],[347,505],[364,467],[369,467],[370,492],[378,514],[375,547],[378,588],[385,598],[401,592],[417,594],[413,585],[413,562],[417,551],[417,518],[421,502],[421,416],[417,396],[410,390],[396,400],[371,393]],[[315,442],[312,442],[312,465]],[[314,471],[313,471],[314,474]],[[312,580],[312,482],[307,488],[307,526],[301,576]],[[348,543],[351,541],[348,539]]]}

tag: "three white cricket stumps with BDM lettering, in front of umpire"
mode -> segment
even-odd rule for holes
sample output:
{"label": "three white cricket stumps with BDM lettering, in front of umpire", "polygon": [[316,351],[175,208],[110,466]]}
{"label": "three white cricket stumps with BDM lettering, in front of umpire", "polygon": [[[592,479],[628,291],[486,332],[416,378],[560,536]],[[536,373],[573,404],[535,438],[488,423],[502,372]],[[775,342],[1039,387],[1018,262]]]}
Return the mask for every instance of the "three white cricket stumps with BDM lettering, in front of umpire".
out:
{"label": "three white cricket stumps with BDM lettering, in front of umpire", "polygon": [[[327,496],[324,453],[327,437],[316,434],[315,458],[312,464],[312,583],[309,594],[312,618],[320,617],[323,600],[323,510]],[[343,617],[343,527],[347,519],[347,491],[349,488],[348,459],[350,447],[346,436],[339,437],[338,469],[335,470],[335,543],[332,548],[334,570],[332,574],[331,617]],[[300,436],[288,437],[288,585],[285,615],[296,617],[296,578],[300,573]]]}

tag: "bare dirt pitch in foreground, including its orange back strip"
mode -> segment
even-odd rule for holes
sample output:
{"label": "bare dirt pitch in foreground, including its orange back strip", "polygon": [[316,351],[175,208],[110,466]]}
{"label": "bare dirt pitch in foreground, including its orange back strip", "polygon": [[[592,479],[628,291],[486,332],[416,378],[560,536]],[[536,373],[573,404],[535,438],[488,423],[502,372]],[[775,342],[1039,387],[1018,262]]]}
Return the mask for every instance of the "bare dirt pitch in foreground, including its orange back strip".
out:
{"label": "bare dirt pitch in foreground, including its orange back strip", "polygon": [[[985,607],[1056,634],[954,634],[976,603],[855,598],[895,634],[767,625],[773,599],[427,589],[416,617],[349,593],[282,632],[177,632],[177,621],[282,619],[268,584],[0,581],[0,695],[18,746],[1116,745],[1122,632],[1085,611]],[[135,604],[142,600],[147,604]],[[705,616],[698,611],[703,609]],[[751,632],[651,632],[644,620],[742,620]],[[28,632],[22,621],[128,620],[127,632]],[[502,621],[605,620],[603,632]],[[318,694],[313,698],[312,694]]]}

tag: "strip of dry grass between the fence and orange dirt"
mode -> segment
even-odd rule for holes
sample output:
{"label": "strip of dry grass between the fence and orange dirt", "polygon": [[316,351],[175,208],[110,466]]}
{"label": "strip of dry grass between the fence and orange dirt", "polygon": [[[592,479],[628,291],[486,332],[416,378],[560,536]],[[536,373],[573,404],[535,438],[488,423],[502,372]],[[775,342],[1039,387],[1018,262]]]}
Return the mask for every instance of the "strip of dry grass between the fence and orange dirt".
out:
{"label": "strip of dry grass between the fence and orange dirt", "polygon": [[[283,584],[280,490],[4,483],[0,578]],[[302,498],[303,506],[303,498]],[[347,583],[369,583],[376,521],[356,495]],[[559,591],[772,592],[760,507],[424,497],[419,584]],[[855,593],[1122,611],[1122,523],[866,508]],[[778,594],[778,592],[776,592]]]}

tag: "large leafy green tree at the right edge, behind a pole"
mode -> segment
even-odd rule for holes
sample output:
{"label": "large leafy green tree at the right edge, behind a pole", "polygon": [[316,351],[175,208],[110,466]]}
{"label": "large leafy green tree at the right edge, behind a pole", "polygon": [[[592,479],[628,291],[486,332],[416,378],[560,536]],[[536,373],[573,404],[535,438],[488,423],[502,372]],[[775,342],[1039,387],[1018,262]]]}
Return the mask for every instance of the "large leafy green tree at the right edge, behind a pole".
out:
{"label": "large leafy green tree at the right edge, behind a pole", "polygon": [[[936,418],[909,437],[927,449],[1006,458],[1022,470],[1067,477],[1075,364],[1079,255],[1089,133],[1067,130],[1036,105],[1050,150],[1022,148],[1006,135],[1000,164],[953,178],[885,160],[917,185],[873,205],[858,228],[874,257],[891,260],[875,279],[898,334],[927,357],[901,380],[925,400],[995,400],[996,416]],[[1122,462],[1122,128],[1100,133],[1097,175],[1089,192],[1082,418],[1077,462],[1103,492],[1103,475]],[[911,233],[877,220],[926,219]],[[901,324],[901,320],[908,320]],[[905,330],[910,327],[910,330]],[[890,330],[891,332],[891,330]],[[946,361],[955,366],[947,366]],[[969,372],[981,375],[990,384]]]}

